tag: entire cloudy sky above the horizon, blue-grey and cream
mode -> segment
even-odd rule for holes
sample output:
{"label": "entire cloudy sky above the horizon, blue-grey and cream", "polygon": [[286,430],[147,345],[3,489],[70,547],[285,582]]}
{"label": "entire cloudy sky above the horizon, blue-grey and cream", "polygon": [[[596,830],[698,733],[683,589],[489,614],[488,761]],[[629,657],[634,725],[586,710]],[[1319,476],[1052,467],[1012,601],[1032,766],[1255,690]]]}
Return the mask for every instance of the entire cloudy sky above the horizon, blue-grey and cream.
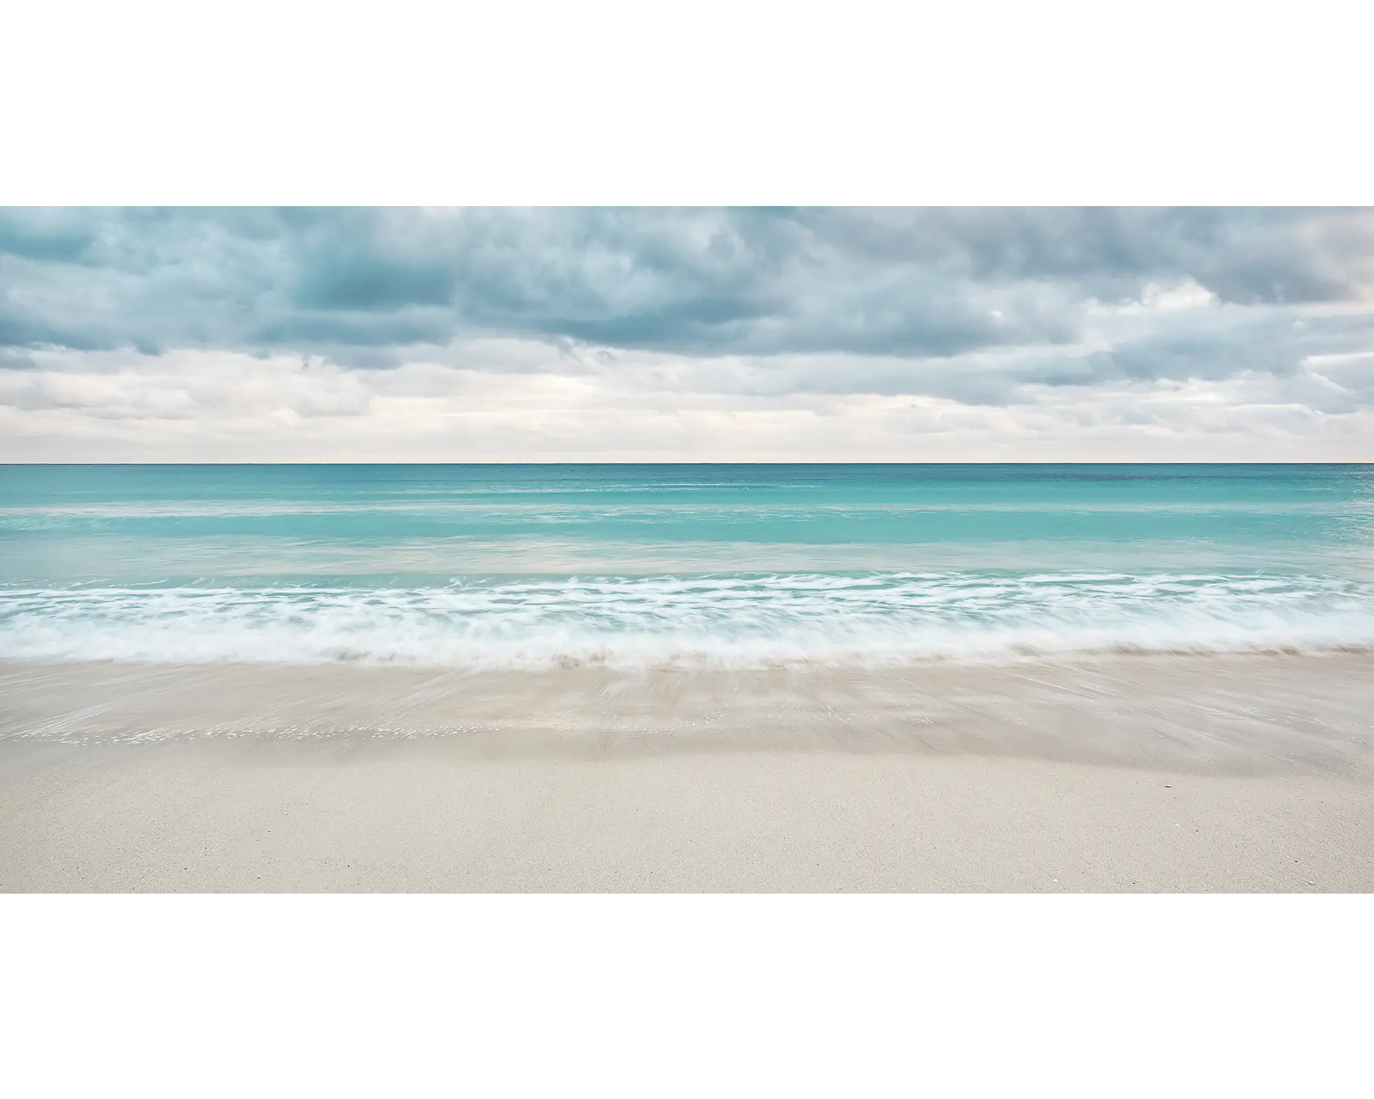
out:
{"label": "entire cloudy sky above the horizon, blue-grey and cream", "polygon": [[0,460],[1374,460],[1374,207],[0,209]]}

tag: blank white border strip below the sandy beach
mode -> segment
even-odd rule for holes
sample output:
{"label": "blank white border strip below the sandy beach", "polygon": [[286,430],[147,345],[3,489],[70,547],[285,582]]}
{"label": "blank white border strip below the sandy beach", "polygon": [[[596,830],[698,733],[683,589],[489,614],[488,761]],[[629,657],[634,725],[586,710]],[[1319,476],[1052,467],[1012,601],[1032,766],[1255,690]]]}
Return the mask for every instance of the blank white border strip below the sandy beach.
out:
{"label": "blank white border strip below the sandy beach", "polygon": [[[1342,1095],[1369,898],[11,898],[14,1095]],[[8,1088],[7,1088],[8,1089]]]}

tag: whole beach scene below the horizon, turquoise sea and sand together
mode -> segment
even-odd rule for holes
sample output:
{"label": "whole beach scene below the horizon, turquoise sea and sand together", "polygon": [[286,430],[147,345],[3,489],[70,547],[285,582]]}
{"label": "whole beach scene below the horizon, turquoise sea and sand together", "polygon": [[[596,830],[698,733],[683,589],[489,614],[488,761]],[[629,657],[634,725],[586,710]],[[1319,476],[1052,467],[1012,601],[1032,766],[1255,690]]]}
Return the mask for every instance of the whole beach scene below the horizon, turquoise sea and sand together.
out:
{"label": "whole beach scene below the horizon, turquoise sea and sand together", "polygon": [[1374,892],[1366,466],[22,466],[7,893]]}

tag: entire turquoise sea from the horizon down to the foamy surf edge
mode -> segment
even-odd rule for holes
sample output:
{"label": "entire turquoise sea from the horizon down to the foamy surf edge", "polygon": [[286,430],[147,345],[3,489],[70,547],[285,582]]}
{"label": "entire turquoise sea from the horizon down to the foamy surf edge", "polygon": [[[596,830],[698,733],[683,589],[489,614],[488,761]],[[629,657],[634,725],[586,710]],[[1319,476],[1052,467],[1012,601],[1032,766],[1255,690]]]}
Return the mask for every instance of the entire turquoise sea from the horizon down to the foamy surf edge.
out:
{"label": "entire turquoise sea from the horizon down to the foamy surf edge", "polygon": [[1374,646],[1371,466],[5,466],[0,657]]}

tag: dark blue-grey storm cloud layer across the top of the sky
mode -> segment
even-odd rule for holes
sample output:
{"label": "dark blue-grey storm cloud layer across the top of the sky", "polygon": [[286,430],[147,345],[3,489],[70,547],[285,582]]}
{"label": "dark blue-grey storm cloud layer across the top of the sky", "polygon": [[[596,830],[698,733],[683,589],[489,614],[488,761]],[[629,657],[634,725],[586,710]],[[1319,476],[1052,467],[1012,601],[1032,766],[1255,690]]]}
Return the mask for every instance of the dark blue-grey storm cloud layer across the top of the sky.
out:
{"label": "dark blue-grey storm cloud layer across the top of the sky", "polygon": [[1092,302],[1193,280],[1224,320],[1160,316],[1044,381],[1282,372],[1312,338],[1272,310],[1367,298],[1371,257],[1374,217],[1348,207],[8,207],[0,346],[915,360],[1066,348]]}

